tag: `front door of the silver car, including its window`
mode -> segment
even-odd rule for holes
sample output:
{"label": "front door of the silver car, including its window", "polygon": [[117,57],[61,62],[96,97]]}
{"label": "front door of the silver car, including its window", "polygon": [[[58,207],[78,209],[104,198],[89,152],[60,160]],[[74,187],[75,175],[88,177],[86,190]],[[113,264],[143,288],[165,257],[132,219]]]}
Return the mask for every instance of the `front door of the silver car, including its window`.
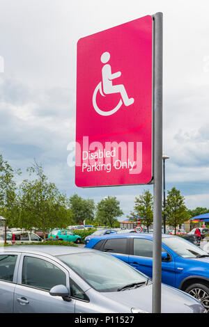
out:
{"label": "front door of the silver car, including its window", "polygon": [[70,289],[68,270],[47,257],[22,254],[14,293],[14,312],[75,312],[74,299],[67,302],[61,296],[49,294],[49,289],[55,285],[65,285]]}

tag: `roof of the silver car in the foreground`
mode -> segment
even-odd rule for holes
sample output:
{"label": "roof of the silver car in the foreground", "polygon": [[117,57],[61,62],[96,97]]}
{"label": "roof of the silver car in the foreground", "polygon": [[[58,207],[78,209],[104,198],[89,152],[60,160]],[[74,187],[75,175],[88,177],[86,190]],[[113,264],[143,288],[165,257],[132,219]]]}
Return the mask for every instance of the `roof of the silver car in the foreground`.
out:
{"label": "roof of the silver car in the foreground", "polygon": [[27,246],[6,246],[0,248],[0,254],[5,252],[16,252],[16,253],[31,253],[31,254],[43,254],[52,255],[56,257],[56,255],[68,255],[73,253],[84,253],[84,252],[92,252],[95,250],[87,249],[87,248],[79,248],[77,246],[45,246],[45,245],[27,245]]}

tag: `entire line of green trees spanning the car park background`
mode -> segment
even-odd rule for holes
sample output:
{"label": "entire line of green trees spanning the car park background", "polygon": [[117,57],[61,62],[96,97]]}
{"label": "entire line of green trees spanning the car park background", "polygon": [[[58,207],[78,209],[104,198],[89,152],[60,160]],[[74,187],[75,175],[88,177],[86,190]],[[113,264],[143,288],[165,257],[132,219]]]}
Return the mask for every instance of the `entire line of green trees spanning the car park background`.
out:
{"label": "entire line of green trees spanning the car park background", "polygon": [[[0,216],[6,218],[9,228],[26,230],[37,228],[45,234],[52,228],[80,225],[84,221],[93,225],[119,227],[118,217],[123,215],[120,202],[115,196],[107,196],[95,204],[77,194],[70,197],[49,182],[41,165],[34,160],[27,168],[29,178],[17,183],[20,169],[15,170],[0,154]],[[187,209],[185,198],[175,187],[167,192],[167,225],[177,228],[189,218],[208,213],[209,209],[197,207]],[[149,191],[135,198],[134,209],[128,216],[131,220],[141,219],[147,229],[153,224],[153,196]]]}

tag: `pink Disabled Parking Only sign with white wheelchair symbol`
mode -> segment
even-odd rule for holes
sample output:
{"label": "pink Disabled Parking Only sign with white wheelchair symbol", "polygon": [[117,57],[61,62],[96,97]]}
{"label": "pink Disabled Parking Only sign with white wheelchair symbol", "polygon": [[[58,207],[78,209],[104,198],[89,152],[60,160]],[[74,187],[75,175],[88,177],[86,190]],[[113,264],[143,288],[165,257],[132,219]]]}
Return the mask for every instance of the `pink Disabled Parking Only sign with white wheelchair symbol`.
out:
{"label": "pink Disabled Parking Only sign with white wheelchair symbol", "polygon": [[153,178],[153,18],[77,43],[75,184],[148,184]]}

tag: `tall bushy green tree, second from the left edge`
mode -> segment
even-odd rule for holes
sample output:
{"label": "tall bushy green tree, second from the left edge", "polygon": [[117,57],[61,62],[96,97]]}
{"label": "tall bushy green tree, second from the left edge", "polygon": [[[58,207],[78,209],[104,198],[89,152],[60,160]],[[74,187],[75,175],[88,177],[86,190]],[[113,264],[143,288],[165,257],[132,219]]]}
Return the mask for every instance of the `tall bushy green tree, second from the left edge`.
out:
{"label": "tall bushy green tree, second from the left edge", "polygon": [[65,195],[54,183],[48,181],[42,167],[36,162],[27,169],[34,180],[24,180],[20,185],[19,227],[31,230],[35,227],[44,234],[52,228],[70,225],[72,213],[67,207]]}

